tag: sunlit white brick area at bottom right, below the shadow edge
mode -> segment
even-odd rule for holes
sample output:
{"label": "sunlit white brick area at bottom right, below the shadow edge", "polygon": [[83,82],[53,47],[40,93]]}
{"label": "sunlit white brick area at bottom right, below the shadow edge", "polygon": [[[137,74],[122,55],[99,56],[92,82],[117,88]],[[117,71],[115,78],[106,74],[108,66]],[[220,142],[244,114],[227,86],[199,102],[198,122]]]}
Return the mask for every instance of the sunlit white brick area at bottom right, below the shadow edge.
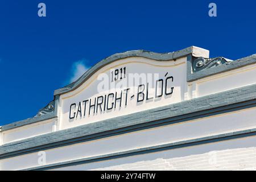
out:
{"label": "sunlit white brick area at bottom right, below the shadow edge", "polygon": [[158,158],[93,170],[255,170],[256,148],[212,151],[181,158]]}

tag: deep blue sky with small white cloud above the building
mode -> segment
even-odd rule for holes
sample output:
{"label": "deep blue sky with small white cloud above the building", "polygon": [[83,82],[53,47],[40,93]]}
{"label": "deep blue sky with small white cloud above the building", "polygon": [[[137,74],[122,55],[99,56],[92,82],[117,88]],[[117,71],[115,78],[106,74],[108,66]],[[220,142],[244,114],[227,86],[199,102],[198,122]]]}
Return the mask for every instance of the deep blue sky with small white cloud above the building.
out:
{"label": "deep blue sky with small white cloud above the building", "polygon": [[[46,4],[46,17],[38,4]],[[217,5],[217,17],[208,5]],[[0,125],[33,117],[53,91],[117,52],[189,46],[238,59],[256,53],[256,2],[0,1]]]}

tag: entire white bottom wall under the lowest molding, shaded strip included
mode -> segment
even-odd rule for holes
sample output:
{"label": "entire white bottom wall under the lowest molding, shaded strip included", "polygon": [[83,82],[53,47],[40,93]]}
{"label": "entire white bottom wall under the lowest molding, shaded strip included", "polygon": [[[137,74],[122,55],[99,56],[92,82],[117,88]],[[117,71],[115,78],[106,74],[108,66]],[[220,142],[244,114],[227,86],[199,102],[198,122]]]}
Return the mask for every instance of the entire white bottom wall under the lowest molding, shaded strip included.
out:
{"label": "entire white bottom wall under the lowest molding, shaded strip included", "polygon": [[256,137],[201,144],[55,170],[256,170]]}

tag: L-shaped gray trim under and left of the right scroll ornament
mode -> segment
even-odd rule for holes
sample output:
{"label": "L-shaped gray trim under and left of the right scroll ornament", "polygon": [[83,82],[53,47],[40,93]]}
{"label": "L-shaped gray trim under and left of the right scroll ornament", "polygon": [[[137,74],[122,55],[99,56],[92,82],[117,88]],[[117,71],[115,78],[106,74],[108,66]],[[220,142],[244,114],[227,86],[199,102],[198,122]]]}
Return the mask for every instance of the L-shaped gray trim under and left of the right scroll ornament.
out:
{"label": "L-shaped gray trim under and left of the right scroll ornament", "polygon": [[241,59],[234,60],[234,61],[228,62],[226,64],[221,64],[221,65],[218,65],[217,67],[205,68],[205,69],[203,69],[199,72],[195,72],[195,73],[192,73],[192,71],[191,71],[192,61],[195,60],[195,57],[188,56],[187,60],[188,60],[187,81],[191,82],[191,81],[199,80],[204,77],[216,75],[218,73],[228,72],[233,69],[245,67],[250,64],[255,64],[256,63],[256,54],[247,56],[247,57],[243,57]]}

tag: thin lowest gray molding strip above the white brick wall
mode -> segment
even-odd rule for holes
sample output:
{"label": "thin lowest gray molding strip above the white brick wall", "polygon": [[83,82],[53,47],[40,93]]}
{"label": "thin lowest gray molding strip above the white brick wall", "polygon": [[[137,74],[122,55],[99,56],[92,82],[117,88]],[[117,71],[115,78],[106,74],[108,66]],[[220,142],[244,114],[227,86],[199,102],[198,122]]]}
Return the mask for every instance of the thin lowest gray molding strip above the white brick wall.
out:
{"label": "thin lowest gray molding strip above the white brick wall", "polygon": [[181,140],[179,142],[160,144],[160,145],[151,146],[151,147],[137,148],[134,150],[115,152],[115,153],[105,154],[105,155],[92,156],[89,158],[69,160],[66,162],[53,163],[45,166],[22,169],[21,171],[47,170],[47,169],[55,169],[55,168],[61,168],[61,167],[67,167],[67,166],[75,166],[75,165],[85,164],[85,163],[93,163],[93,162],[100,162],[100,161],[110,160],[110,159],[124,158],[127,156],[133,156],[133,155],[148,154],[151,152],[159,152],[164,150],[173,150],[176,148],[191,147],[191,146],[196,146],[196,145],[205,144],[205,143],[214,143],[214,142],[221,142],[221,141],[230,140],[230,139],[251,137],[254,135],[256,135],[256,128],[249,129],[249,130],[235,131],[231,133],[223,133],[218,135],[210,135],[208,137],[202,137],[202,138],[196,138],[196,139]]}

